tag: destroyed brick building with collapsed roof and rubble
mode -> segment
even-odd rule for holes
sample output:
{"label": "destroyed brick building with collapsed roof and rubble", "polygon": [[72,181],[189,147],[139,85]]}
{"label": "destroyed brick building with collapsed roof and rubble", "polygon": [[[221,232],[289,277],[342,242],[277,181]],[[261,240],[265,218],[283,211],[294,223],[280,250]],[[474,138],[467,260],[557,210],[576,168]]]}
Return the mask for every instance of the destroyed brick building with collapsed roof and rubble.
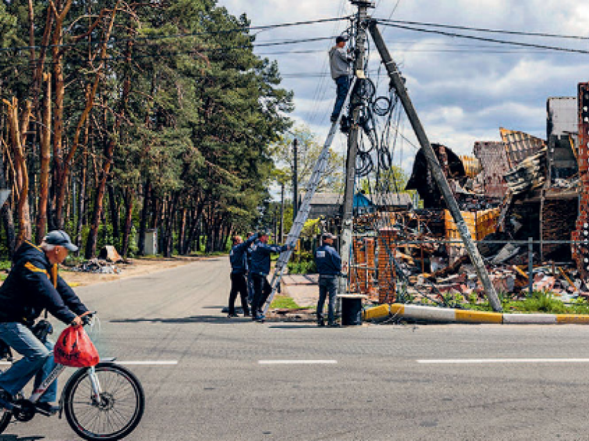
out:
{"label": "destroyed brick building with collapsed roof and rubble", "polygon": [[[589,84],[546,108],[546,139],[500,128],[501,141],[475,142],[473,157],[432,147],[497,291],[589,296]],[[423,209],[355,218],[353,291],[375,302],[482,293],[423,150],[406,189]]]}

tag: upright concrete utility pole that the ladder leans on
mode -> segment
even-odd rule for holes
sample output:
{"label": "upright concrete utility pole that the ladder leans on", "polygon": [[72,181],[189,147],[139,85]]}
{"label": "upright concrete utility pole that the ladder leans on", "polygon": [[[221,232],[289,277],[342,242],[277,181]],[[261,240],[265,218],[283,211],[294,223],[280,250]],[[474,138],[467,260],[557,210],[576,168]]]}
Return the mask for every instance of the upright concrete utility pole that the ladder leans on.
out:
{"label": "upright concrete utility pole that the ladder leans on", "polygon": [[[351,0],[354,6],[358,6],[358,17],[356,18],[356,41],[354,51],[354,71],[353,74],[358,78],[355,90],[362,87],[364,75],[364,46],[366,46],[366,28],[368,24],[368,8],[374,8],[373,1]],[[362,109],[362,96],[352,91],[351,96],[351,128],[348,135],[348,155],[346,159],[346,187],[344,189],[344,212],[342,214],[342,236],[340,238],[340,256],[342,257],[342,269],[349,271],[352,230],[353,230],[353,211],[354,211],[354,189],[356,174],[356,154],[358,153],[358,136],[360,134],[360,110]],[[348,278],[340,277],[340,286],[337,292],[345,294],[348,290]]]}

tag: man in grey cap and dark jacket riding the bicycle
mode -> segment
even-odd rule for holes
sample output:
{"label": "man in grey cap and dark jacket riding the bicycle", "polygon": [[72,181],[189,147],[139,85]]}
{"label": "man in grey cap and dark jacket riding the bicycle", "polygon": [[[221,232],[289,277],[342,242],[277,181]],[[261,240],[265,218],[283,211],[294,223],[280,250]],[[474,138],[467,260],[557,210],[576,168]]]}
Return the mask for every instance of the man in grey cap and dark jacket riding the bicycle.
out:
{"label": "man in grey cap and dark jacket riding the bicycle", "polygon": [[[66,232],[47,234],[38,247],[25,241],[13,257],[10,274],[0,286],[0,339],[22,355],[9,370],[0,374],[0,397],[11,401],[35,376],[35,389],[49,375],[53,361],[53,343],[41,341],[31,327],[46,309],[66,325],[82,325],[88,309],[76,293],[58,275],[58,264],[69,251],[77,251]],[[58,410],[54,381],[36,404],[43,413]]]}

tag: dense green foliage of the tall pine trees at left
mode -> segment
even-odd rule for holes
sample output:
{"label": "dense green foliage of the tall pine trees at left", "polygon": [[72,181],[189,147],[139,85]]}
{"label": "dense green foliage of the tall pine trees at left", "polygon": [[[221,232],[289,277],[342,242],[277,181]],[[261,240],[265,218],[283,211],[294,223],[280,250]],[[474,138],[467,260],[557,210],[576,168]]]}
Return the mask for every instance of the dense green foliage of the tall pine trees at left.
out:
{"label": "dense green foliage of the tall pine trees at left", "polygon": [[[53,7],[60,10],[64,3],[55,2],[53,6],[45,1],[33,2],[37,58],[46,23],[55,26],[55,20],[48,21],[47,14],[53,14]],[[73,156],[71,175],[64,180],[77,184],[85,166],[88,223],[96,206],[96,183],[106,161],[105,146],[114,143],[107,182],[114,188],[121,224],[125,197],[131,194],[134,199],[130,255],[137,252],[134,234],[139,230],[139,207],[147,182],[153,198],[173,207],[172,216],[179,216],[183,209],[192,213],[195,207],[202,206],[202,216],[191,218],[191,222],[202,223],[201,234],[205,236],[211,236],[219,226],[223,230],[252,229],[258,218],[257,207],[269,198],[267,185],[274,168],[270,146],[279,142],[280,134],[292,124],[286,116],[293,109],[292,92],[281,88],[276,62],[254,53],[256,36],[247,31],[247,16],[233,16],[213,0],[155,3],[125,3],[124,8],[118,8],[110,35],[112,44],[107,47],[109,61],[99,77],[80,148]],[[65,46],[59,51],[59,65],[67,83],[61,139],[64,157],[85,109],[87,89],[96,78],[100,65],[98,42],[106,35],[112,6],[112,2],[104,0],[75,1],[64,15]],[[89,24],[99,16],[103,19],[89,31]],[[28,45],[29,28],[28,3],[0,3],[0,46]],[[236,28],[244,31],[234,32]],[[233,31],[222,32],[227,30]],[[179,34],[193,36],[170,37]],[[55,61],[53,51],[46,51],[45,71],[53,71]],[[45,86],[40,93],[35,89],[28,52],[6,51],[2,64],[0,98],[15,96],[24,103],[38,97],[42,102]],[[82,165],[84,157],[87,163]],[[39,158],[29,151],[27,159],[31,173],[37,173]],[[58,167],[52,167],[51,173],[58,173]],[[51,176],[50,182],[59,181],[53,179],[56,176]],[[51,193],[55,194],[55,188]],[[30,199],[37,200],[37,195],[31,194]],[[104,202],[104,211],[109,211],[107,198]],[[148,214],[153,224],[157,216],[151,208]],[[112,217],[107,212],[107,223],[112,223]],[[160,217],[164,223],[170,218]],[[179,224],[175,218],[173,227],[164,233],[174,235],[174,246],[177,231],[173,230]],[[70,233],[76,231],[77,219],[67,219],[64,227]],[[121,250],[122,238],[115,237],[113,230],[112,225],[100,225],[97,249],[112,244]],[[82,245],[86,245],[88,234],[85,225]],[[0,252],[4,246],[0,241]],[[225,243],[215,243],[213,250],[207,251],[226,248]]]}

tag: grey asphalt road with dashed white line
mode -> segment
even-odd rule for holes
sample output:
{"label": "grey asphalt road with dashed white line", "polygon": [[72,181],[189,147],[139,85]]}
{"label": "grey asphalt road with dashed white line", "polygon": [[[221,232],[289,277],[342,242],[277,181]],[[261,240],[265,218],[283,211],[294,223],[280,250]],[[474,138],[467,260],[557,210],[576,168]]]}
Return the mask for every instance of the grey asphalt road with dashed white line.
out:
{"label": "grey asphalt road with dashed white line", "polygon": [[[211,259],[78,289],[102,318],[102,356],[177,361],[130,366],[147,405],[129,440],[589,439],[589,327],[228,320],[228,270]],[[37,416],[0,439],[76,435]]]}

